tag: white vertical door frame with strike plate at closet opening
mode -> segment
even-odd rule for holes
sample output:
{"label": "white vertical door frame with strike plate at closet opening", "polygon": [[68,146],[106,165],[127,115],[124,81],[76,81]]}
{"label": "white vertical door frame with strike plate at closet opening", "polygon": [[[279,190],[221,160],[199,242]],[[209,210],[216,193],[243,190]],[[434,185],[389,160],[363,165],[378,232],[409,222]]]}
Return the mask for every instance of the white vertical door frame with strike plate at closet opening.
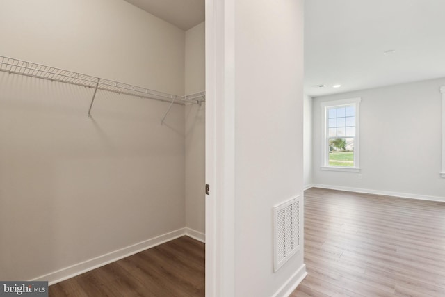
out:
{"label": "white vertical door frame with strike plate at closet opening", "polygon": [[235,296],[234,0],[206,0],[206,296]]}

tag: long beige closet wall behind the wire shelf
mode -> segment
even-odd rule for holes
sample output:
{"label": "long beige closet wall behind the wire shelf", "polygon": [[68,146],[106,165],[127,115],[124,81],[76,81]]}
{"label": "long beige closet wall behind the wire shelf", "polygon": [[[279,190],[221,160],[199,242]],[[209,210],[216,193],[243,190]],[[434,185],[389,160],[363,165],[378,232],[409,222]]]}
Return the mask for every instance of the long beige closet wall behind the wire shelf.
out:
{"label": "long beige closet wall behind the wire shelf", "polygon": [[[122,0],[0,3],[0,56],[178,95],[185,38]],[[184,228],[184,106],[161,125],[168,103],[98,91],[88,119],[89,88],[0,72],[0,90],[1,280],[66,277]]]}

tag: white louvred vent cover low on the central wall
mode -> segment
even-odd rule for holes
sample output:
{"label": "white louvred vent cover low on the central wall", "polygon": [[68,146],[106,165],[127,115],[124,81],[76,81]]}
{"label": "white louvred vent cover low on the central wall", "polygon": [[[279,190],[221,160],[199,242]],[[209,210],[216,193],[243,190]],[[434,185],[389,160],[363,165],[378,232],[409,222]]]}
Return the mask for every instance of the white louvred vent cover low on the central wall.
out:
{"label": "white louvred vent cover low on the central wall", "polygon": [[274,271],[300,249],[300,196],[273,207]]}

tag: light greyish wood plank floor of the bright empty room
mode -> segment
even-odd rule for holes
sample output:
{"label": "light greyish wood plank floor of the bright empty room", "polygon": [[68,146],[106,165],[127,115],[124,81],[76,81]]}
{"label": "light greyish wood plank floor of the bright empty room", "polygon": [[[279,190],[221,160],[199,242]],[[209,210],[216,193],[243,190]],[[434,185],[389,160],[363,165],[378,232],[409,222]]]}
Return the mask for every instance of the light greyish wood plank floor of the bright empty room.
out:
{"label": "light greyish wood plank floor of the bright empty room", "polygon": [[445,296],[445,203],[312,188],[291,296]]}

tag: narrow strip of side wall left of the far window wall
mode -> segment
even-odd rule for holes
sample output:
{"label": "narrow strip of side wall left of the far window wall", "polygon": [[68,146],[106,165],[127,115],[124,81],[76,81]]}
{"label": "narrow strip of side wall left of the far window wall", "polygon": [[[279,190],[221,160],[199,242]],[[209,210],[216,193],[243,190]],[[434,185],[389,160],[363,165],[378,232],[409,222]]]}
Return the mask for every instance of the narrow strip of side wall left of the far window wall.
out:
{"label": "narrow strip of side wall left of the far window wall", "polygon": [[305,188],[312,186],[312,97],[305,95],[303,102],[303,118],[305,120],[304,122],[304,139],[303,139],[303,168],[304,175],[303,175],[303,184]]}

